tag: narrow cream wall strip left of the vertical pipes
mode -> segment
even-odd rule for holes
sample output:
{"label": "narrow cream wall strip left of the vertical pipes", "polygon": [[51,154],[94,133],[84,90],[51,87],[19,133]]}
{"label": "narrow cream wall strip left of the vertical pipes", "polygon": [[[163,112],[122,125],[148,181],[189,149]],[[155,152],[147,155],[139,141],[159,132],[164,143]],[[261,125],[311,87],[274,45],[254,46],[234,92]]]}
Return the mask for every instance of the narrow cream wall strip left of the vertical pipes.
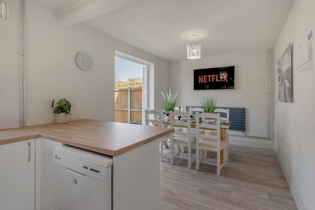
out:
{"label": "narrow cream wall strip left of the vertical pipes", "polygon": [[12,9],[9,20],[0,19],[0,129],[20,126],[20,4],[6,3]]}

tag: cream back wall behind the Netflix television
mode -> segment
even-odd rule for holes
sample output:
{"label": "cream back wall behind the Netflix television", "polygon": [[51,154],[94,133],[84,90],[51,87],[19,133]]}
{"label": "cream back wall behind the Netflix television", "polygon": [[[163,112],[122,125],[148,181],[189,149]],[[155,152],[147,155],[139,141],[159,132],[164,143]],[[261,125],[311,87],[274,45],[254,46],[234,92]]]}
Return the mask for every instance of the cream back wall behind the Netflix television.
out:
{"label": "cream back wall behind the Netflix television", "polygon": [[181,60],[169,65],[170,88],[178,92],[178,105],[200,106],[193,90],[193,70],[235,65],[235,90],[215,90],[218,106],[246,108],[246,134],[267,137],[267,50]]}

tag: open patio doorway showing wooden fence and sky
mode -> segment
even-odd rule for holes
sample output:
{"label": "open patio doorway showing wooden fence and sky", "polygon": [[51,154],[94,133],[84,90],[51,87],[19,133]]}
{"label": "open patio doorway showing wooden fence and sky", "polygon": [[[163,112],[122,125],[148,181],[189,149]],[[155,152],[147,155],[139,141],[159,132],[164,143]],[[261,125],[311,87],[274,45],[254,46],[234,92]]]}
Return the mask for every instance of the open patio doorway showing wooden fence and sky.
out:
{"label": "open patio doorway showing wooden fence and sky", "polygon": [[134,57],[115,57],[115,122],[144,124],[147,107],[148,65]]}

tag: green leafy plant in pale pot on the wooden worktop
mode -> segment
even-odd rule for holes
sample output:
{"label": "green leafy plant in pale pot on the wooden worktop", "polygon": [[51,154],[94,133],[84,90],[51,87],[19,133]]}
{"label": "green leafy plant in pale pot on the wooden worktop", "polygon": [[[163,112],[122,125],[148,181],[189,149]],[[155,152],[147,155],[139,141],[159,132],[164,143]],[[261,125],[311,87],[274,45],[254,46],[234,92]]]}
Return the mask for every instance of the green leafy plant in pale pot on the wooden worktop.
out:
{"label": "green leafy plant in pale pot on the wooden worktop", "polygon": [[[54,108],[54,103],[56,100],[54,99],[51,102],[51,108]],[[71,103],[67,99],[60,99],[56,103],[56,107],[54,108],[53,113],[55,114],[55,123],[66,123],[68,122],[68,115],[71,111]]]}

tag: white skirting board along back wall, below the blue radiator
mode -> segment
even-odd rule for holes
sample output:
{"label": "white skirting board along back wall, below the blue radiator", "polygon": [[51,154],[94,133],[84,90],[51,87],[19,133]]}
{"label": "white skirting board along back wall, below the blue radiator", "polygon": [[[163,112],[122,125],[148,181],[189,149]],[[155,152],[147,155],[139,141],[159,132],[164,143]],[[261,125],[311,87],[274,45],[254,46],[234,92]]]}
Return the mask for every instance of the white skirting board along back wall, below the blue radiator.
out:
{"label": "white skirting board along back wall, below the blue radiator", "polygon": [[258,147],[273,150],[274,141],[267,139],[251,138],[246,136],[229,136],[229,144]]}

